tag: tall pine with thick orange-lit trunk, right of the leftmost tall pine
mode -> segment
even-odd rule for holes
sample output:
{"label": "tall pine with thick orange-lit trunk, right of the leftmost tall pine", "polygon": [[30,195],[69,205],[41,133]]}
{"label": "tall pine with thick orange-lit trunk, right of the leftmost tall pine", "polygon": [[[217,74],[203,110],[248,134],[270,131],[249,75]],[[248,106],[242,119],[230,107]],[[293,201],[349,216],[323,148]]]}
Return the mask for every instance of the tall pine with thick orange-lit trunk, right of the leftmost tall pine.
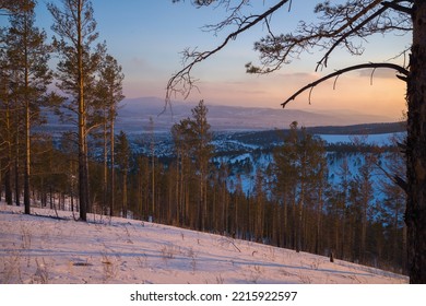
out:
{"label": "tall pine with thick orange-lit trunk, right of the leftmost tall pine", "polygon": [[79,199],[80,219],[86,221],[90,205],[87,116],[90,111],[90,89],[93,89],[94,74],[105,52],[105,46],[93,44],[98,37],[94,11],[90,0],[62,0],[63,9],[49,3],[54,16],[52,25],[60,40],[56,40],[59,54],[58,86],[71,98],[62,105],[75,117],[72,119],[79,136]]}

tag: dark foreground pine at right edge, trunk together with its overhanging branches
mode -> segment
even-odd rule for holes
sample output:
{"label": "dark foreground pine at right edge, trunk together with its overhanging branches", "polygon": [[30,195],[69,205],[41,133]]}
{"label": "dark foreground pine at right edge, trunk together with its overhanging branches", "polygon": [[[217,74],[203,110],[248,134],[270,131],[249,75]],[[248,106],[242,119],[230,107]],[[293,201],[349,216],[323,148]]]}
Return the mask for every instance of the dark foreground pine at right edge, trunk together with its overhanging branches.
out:
{"label": "dark foreground pine at right edge, trunk together with its overhanging branches", "polygon": [[[174,0],[179,2],[180,0]],[[300,58],[305,51],[315,51],[319,58],[316,71],[328,68],[336,50],[345,49],[351,56],[364,54],[364,42],[374,35],[412,34],[410,50],[403,47],[397,57],[410,51],[410,61],[397,64],[389,61],[365,62],[334,70],[333,72],[309,83],[289,96],[282,106],[307,90],[329,79],[362,69],[391,69],[397,78],[406,84],[407,99],[407,139],[404,144],[406,156],[406,177],[399,180],[407,193],[405,223],[407,226],[407,254],[410,282],[426,283],[426,2],[424,0],[388,1],[388,0],[350,0],[345,3],[333,1],[310,2],[306,8],[313,9],[317,19],[313,22],[301,22],[294,31],[275,33],[271,19],[276,12],[292,9],[292,0],[280,0],[256,13],[246,13],[255,1],[241,1],[240,5],[229,5],[229,1],[193,1],[197,7],[217,5],[225,9],[226,17],[217,24],[210,25],[215,33],[233,27],[218,46],[211,50],[187,49],[184,54],[185,67],[175,73],[167,84],[168,98],[174,93],[188,96],[196,86],[191,72],[194,66],[223,50],[227,44],[256,26],[264,25],[265,36],[256,42],[255,49],[260,54],[260,64],[246,64],[249,73],[268,74]],[[240,16],[240,17],[235,17]]]}

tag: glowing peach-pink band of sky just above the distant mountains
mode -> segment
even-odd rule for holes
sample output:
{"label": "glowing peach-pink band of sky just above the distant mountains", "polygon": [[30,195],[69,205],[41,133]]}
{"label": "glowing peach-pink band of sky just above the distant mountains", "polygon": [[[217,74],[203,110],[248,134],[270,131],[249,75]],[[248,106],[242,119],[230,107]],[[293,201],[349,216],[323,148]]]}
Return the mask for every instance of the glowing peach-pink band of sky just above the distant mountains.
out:
{"label": "glowing peach-pink band of sky just above the distant mountains", "polygon": [[[363,71],[362,74],[371,73]],[[307,111],[344,110],[358,114],[379,115],[399,120],[406,109],[405,84],[388,74],[376,71],[370,83],[370,75],[360,75],[353,72],[339,78],[335,89],[334,80],[318,85],[311,93],[309,91],[299,95],[287,105],[288,109],[304,109]],[[274,73],[271,75],[245,75],[230,80],[201,79],[199,91],[193,91],[190,101],[204,99],[209,104],[253,106],[280,108],[286,97],[291,96],[301,86],[319,79],[320,73]],[[158,80],[126,83],[128,97],[164,96],[165,83]],[[181,99],[177,96],[176,99]]]}

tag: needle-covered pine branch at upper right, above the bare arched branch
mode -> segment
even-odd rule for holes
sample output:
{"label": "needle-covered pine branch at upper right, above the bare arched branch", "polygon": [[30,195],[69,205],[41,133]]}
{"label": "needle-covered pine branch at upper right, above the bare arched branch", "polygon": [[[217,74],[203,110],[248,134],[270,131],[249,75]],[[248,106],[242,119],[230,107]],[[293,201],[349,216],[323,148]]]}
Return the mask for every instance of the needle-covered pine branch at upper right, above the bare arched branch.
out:
{"label": "needle-covered pine branch at upper right, above the bare arched branch", "polygon": [[[345,5],[331,4],[329,1],[317,4],[315,13],[318,14],[319,22],[308,24],[301,21],[293,33],[279,36],[270,34],[257,42],[255,49],[260,52],[262,67],[248,63],[247,72],[268,74],[299,58],[304,51],[326,50],[318,61],[318,70],[327,67],[338,46],[344,47],[351,55],[362,55],[363,43],[372,34],[412,31],[411,15],[394,12],[389,5],[381,5],[382,2],[350,0]],[[394,4],[406,1],[391,1]]]}

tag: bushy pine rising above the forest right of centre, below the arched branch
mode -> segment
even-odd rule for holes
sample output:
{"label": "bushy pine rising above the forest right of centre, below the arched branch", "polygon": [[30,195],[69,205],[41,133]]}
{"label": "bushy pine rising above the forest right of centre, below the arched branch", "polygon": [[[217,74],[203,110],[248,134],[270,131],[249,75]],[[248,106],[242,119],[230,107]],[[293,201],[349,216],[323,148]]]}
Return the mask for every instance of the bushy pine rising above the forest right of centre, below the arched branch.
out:
{"label": "bushy pine rising above the forest right of centre, below the arched branch", "polygon": [[[308,237],[303,233],[308,226],[307,208],[312,210],[313,203],[318,203],[316,233],[318,245],[320,239],[320,226],[322,214],[323,185],[327,178],[326,151],[323,144],[307,133],[305,128],[298,129],[298,123],[293,122],[288,134],[284,138],[283,145],[274,151],[272,176],[274,190],[280,195],[284,205],[284,231],[287,232],[287,210],[291,204],[293,247],[300,251],[308,244]],[[285,233],[286,234],[286,233]],[[317,246],[317,249],[319,247]]]}

